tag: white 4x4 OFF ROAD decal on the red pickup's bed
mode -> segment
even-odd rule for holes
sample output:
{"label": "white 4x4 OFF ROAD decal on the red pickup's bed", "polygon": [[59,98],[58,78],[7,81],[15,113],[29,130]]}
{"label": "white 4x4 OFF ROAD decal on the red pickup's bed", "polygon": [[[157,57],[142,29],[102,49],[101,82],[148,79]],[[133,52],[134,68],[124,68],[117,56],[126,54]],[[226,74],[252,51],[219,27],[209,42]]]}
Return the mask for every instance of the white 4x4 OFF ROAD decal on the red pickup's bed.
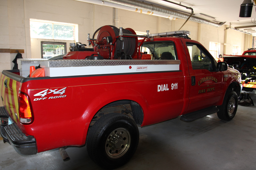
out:
{"label": "white 4x4 OFF ROAD decal on the red pickup's bed", "polygon": [[[37,101],[37,100],[45,100],[45,99],[55,99],[55,98],[63,98],[63,97],[66,97],[66,95],[63,95],[65,93],[65,89],[67,87],[64,87],[62,89],[54,89],[54,90],[51,90],[51,89],[46,89],[46,90],[43,90],[43,91],[40,91],[39,93],[36,93],[34,94],[34,96],[41,96],[41,98],[35,98],[34,101]],[[45,97],[47,94],[59,94],[59,95],[56,95],[56,96],[51,96],[51,97]]]}

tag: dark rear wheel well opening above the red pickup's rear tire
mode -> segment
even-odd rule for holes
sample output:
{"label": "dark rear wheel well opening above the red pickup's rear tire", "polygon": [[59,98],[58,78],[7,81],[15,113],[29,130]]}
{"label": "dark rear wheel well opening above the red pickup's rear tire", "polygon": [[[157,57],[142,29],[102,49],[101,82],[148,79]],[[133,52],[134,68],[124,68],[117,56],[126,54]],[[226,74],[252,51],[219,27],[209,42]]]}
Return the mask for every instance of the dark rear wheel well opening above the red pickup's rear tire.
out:
{"label": "dark rear wheel well opening above the red pickup's rear tire", "polygon": [[108,113],[120,113],[131,117],[137,125],[143,122],[143,111],[141,106],[132,100],[118,100],[102,107],[92,118],[91,127],[101,116]]}

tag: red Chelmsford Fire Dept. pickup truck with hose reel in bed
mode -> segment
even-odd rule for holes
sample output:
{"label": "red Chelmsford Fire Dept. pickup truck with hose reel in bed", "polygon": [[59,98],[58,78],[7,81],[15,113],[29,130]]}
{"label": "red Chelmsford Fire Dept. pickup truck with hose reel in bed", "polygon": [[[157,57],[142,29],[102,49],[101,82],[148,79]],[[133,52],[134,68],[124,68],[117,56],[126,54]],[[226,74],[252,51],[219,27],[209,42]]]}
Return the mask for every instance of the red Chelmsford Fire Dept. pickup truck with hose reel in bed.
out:
{"label": "red Chelmsford Fire Dept. pickup truck with hose reel in bed", "polygon": [[93,161],[113,169],[135,153],[138,126],[235,116],[239,72],[217,63],[189,31],[97,31],[97,39],[88,35],[92,49],[71,45],[63,59],[41,61],[30,77],[2,72],[1,136],[19,154],[86,144]]}

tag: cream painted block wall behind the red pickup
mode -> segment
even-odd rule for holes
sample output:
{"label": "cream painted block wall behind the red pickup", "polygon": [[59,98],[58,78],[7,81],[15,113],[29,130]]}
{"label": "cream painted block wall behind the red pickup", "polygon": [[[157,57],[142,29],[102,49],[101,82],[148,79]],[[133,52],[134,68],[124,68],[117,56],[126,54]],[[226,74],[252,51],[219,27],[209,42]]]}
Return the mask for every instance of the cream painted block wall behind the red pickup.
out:
{"label": "cream painted block wall behind the red pickup", "polygon": [[[42,39],[30,38],[30,19],[77,24],[76,42],[86,44],[87,33],[92,35],[97,28],[104,25],[156,33],[178,30],[185,22],[182,19],[169,20],[74,0],[0,0],[0,48],[24,49],[23,58],[40,58]],[[231,29],[225,30],[226,27],[228,26],[216,28],[188,21],[182,30],[191,31],[190,37],[202,43],[206,49],[209,48],[210,41],[219,42],[222,55],[230,54],[232,45],[240,45],[241,53],[252,46],[250,35]],[[12,60],[15,56],[15,53],[0,52],[0,72],[13,68]]]}

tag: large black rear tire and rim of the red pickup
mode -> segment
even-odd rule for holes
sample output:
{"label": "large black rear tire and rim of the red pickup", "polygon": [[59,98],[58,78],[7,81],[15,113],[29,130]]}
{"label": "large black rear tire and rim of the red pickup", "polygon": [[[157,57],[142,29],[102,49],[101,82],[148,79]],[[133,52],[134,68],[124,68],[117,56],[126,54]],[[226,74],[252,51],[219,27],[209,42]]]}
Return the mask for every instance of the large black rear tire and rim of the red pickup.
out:
{"label": "large black rear tire and rim of the red pickup", "polygon": [[104,169],[124,165],[135,153],[139,130],[128,116],[109,113],[99,118],[87,134],[86,147],[91,159]]}

